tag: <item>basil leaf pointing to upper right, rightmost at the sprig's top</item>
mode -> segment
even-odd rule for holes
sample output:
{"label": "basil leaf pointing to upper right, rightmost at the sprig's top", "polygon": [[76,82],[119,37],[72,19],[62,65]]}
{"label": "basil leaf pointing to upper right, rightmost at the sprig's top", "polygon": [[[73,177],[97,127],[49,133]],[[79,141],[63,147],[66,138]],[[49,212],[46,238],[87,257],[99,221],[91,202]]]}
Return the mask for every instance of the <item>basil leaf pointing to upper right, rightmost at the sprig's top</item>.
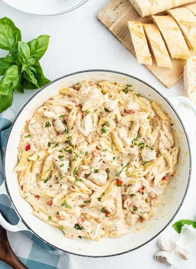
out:
{"label": "basil leaf pointing to upper right, rightmost at the sprig's top", "polygon": [[30,48],[30,57],[39,61],[49,45],[49,36],[41,35],[27,43]]}

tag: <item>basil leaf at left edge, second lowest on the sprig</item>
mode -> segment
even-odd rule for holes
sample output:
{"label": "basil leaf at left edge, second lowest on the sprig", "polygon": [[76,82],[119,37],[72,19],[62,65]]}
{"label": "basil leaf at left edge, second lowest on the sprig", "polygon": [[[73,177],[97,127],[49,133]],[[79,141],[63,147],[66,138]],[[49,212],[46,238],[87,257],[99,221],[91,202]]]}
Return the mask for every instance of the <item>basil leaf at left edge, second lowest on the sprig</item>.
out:
{"label": "basil leaf at left edge, second lowest on the sprig", "polygon": [[10,95],[14,92],[15,88],[19,84],[18,67],[12,65],[7,68],[4,76],[0,80],[0,94]]}

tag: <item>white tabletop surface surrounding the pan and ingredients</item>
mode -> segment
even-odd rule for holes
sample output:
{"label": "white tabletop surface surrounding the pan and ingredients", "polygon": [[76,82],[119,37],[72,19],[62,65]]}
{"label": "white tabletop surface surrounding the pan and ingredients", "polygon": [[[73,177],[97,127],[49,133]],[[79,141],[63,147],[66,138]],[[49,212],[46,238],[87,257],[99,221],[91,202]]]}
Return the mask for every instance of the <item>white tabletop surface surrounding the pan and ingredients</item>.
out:
{"label": "white tabletop surface surrounding the pan and ingredients", "polygon": [[[110,69],[136,76],[159,90],[167,97],[184,95],[183,79],[171,89],[165,88],[144,66],[139,65],[134,56],[98,21],[98,12],[109,0],[89,0],[76,10],[56,16],[37,16],[18,11],[0,0],[0,18],[8,17],[21,29],[22,40],[28,42],[41,34],[50,35],[49,48],[41,65],[44,74],[50,80],[75,71],[86,69]],[[39,7],[38,7],[39,8]],[[6,55],[0,50],[0,57]],[[15,92],[14,103],[11,107],[15,114],[36,90],[25,90],[24,94]],[[186,112],[185,112],[186,113]],[[181,116],[188,121],[185,113]],[[185,124],[186,124],[185,122]],[[196,125],[196,118],[190,119]],[[191,125],[191,124],[189,124]],[[196,142],[192,143],[193,160],[196,159]],[[172,223],[180,219],[196,220],[196,165],[193,165],[192,179],[185,202]],[[170,224],[162,235],[171,237],[176,232]],[[10,245],[15,249],[15,235],[8,232]],[[22,236],[22,242],[25,236]],[[180,269],[196,268],[196,242],[189,247],[191,258],[180,261]],[[87,258],[71,255],[74,268],[70,269],[167,269],[163,264],[154,260],[158,250],[157,238],[144,247],[132,252],[108,257]]]}

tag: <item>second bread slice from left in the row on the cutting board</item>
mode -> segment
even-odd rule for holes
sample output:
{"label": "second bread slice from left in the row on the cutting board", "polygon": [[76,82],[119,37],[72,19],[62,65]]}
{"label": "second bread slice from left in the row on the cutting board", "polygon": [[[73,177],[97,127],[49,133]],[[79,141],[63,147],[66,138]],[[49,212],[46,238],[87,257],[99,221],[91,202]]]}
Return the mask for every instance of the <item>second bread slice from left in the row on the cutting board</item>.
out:
{"label": "second bread slice from left in the row on the cutting board", "polygon": [[172,68],[170,55],[158,26],[155,23],[144,23],[143,27],[157,66]]}

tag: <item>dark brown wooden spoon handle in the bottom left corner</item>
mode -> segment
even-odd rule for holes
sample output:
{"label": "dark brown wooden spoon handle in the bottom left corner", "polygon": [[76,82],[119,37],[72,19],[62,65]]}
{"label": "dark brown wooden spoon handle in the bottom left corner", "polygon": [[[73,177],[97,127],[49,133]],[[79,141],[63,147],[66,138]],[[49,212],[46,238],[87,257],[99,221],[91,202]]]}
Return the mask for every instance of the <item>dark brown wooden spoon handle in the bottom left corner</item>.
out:
{"label": "dark brown wooden spoon handle in the bottom left corner", "polygon": [[0,226],[0,260],[9,264],[14,269],[28,269],[16,256],[9,245],[6,230]]}

